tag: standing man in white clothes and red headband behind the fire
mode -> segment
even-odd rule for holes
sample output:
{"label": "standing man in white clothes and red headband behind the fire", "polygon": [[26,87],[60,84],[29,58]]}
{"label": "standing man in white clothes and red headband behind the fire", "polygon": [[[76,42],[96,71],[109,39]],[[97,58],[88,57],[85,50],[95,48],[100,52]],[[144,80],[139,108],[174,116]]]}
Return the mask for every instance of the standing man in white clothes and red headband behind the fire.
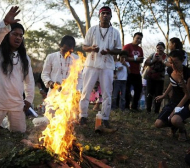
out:
{"label": "standing man in white clothes and red headband behind the fire", "polygon": [[111,110],[111,95],[113,70],[115,69],[113,56],[121,51],[119,31],[112,27],[110,20],[111,9],[107,6],[99,10],[99,25],[91,27],[85,37],[83,50],[88,52],[83,70],[83,91],[79,103],[80,124],[87,124],[90,93],[97,80],[102,90],[102,119],[105,127],[109,127]]}

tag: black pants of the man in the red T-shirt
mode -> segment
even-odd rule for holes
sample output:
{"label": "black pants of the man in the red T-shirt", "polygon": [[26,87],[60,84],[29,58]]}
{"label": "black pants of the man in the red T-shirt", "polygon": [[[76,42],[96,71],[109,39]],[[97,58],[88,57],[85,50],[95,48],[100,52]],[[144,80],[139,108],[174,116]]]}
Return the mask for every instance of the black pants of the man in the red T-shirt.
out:
{"label": "black pants of the man in the red T-shirt", "polygon": [[126,108],[130,108],[131,101],[131,86],[134,88],[134,97],[132,100],[132,109],[138,108],[138,102],[142,92],[142,77],[140,74],[129,74],[127,78],[127,87],[126,87]]}

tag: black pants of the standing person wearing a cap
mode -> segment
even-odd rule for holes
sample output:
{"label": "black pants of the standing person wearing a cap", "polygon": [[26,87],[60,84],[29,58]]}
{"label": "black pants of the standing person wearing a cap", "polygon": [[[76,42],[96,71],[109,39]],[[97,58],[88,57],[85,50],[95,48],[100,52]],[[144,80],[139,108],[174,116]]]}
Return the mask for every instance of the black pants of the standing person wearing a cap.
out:
{"label": "black pants of the standing person wearing a cap", "polygon": [[[151,112],[152,101],[156,96],[162,95],[164,89],[164,80],[147,79],[147,112]],[[154,112],[159,113],[161,102],[154,101]]]}

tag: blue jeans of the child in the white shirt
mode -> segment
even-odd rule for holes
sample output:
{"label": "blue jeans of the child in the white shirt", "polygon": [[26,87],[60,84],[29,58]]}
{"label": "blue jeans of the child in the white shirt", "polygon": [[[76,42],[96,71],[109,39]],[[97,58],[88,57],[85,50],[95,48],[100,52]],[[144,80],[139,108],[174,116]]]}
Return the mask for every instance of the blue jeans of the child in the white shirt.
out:
{"label": "blue jeans of the child in the white shirt", "polygon": [[119,107],[123,111],[125,110],[125,93],[126,93],[126,80],[115,80],[113,83],[113,96],[112,96],[112,108],[117,108],[117,96],[120,94]]}

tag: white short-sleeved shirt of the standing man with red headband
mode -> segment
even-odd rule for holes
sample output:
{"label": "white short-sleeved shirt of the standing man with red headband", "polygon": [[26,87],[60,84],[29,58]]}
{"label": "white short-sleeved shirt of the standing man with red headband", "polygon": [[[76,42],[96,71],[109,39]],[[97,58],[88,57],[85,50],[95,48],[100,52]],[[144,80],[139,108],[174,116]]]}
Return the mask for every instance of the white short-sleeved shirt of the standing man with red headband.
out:
{"label": "white short-sleeved shirt of the standing man with red headband", "polygon": [[[100,29],[103,36],[106,34],[104,39],[101,36]],[[102,55],[100,52],[102,50],[107,50],[107,48],[110,50],[122,48],[118,30],[112,26],[109,28],[100,28],[99,25],[93,26],[86,33],[84,45],[97,45],[99,47],[98,53],[88,53],[85,66],[100,69],[115,69],[113,56],[109,54]]]}

